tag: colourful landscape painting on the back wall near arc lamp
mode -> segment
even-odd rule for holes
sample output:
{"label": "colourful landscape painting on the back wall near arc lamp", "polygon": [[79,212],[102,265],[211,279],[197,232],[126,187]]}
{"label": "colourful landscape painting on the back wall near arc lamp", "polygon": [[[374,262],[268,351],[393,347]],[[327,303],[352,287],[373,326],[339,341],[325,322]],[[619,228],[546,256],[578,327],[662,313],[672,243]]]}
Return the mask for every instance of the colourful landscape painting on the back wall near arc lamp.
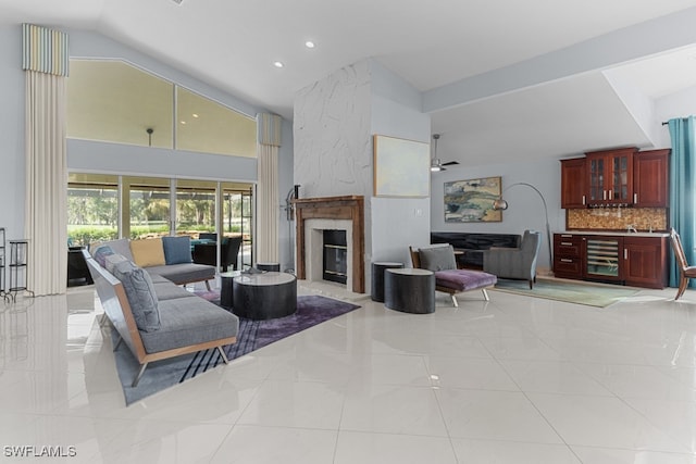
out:
{"label": "colourful landscape painting on the back wall near arc lamp", "polygon": [[500,177],[445,183],[446,223],[497,223],[502,211],[493,209],[500,198]]}

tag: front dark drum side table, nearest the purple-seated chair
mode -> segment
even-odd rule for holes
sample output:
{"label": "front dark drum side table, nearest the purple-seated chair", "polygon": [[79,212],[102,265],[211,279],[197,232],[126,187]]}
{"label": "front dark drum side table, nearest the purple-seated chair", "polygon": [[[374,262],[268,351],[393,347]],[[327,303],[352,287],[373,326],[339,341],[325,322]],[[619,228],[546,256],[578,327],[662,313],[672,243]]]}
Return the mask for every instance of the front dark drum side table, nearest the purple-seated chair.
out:
{"label": "front dark drum side table, nearest the purple-seated chair", "polygon": [[435,273],[419,268],[386,269],[384,305],[403,313],[434,313]]}

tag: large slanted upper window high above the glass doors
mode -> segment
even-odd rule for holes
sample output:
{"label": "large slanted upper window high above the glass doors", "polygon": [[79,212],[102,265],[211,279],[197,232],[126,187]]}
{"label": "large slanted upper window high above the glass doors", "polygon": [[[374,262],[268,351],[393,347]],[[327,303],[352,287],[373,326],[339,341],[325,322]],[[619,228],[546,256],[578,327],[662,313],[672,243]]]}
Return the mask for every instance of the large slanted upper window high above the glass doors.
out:
{"label": "large slanted upper window high above the glass doors", "polygon": [[71,60],[67,137],[256,158],[256,120],[120,60]]}

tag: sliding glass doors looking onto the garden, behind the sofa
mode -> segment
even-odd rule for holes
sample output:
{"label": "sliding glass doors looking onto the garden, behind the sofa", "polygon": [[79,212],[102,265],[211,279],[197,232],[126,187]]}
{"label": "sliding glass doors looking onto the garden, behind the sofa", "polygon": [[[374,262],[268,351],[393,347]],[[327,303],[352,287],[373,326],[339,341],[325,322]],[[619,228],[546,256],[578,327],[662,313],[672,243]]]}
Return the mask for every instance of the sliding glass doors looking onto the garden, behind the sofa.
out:
{"label": "sliding glass doors looking onto the garden, behind the sofa", "polygon": [[208,233],[220,234],[222,241],[241,236],[238,264],[253,262],[250,184],[71,173],[67,192],[73,246],[167,235],[198,240]]}

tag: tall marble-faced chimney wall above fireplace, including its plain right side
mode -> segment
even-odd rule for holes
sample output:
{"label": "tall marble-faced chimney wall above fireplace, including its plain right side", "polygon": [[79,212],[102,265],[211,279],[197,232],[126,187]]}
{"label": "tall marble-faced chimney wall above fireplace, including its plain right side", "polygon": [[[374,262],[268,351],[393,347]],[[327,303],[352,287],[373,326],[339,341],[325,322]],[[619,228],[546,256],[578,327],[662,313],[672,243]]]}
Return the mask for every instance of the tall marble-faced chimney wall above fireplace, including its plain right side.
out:
{"label": "tall marble-faced chimney wall above fireplace, including its plain right side", "polygon": [[430,240],[430,199],[373,197],[374,134],[427,143],[421,95],[373,60],[346,66],[295,98],[295,181],[302,197],[365,198],[365,281],[371,262],[410,264]]}

